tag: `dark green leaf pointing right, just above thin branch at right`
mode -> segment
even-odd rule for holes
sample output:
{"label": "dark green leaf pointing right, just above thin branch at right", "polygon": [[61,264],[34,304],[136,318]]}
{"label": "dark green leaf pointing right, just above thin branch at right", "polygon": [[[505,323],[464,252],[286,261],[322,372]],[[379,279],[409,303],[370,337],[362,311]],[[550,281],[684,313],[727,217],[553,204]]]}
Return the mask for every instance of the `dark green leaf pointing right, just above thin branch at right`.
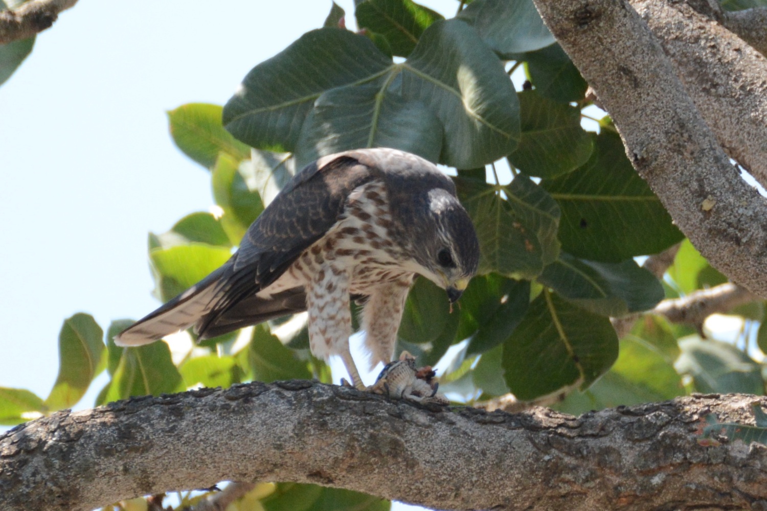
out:
{"label": "dark green leaf pointing right, just above thin branch at right", "polygon": [[633,260],[597,263],[562,252],[538,277],[563,298],[603,316],[650,310],[663,300],[660,281]]}

